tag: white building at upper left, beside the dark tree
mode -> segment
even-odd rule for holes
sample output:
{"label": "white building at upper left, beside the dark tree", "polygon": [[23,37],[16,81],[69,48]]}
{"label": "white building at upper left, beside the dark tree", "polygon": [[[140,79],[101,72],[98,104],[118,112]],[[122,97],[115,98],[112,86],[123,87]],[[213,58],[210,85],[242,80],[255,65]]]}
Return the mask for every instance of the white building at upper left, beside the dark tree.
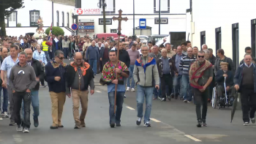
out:
{"label": "white building at upper left, beside the dark tree", "polygon": [[[69,27],[75,23],[72,12],[75,8],[75,1],[72,3],[66,0],[23,0],[23,8],[15,10],[7,17],[7,35],[20,36],[29,32],[36,32],[39,16],[43,20],[43,29],[53,26],[60,26],[65,35],[71,35]],[[21,26],[19,26],[21,25]]]}

